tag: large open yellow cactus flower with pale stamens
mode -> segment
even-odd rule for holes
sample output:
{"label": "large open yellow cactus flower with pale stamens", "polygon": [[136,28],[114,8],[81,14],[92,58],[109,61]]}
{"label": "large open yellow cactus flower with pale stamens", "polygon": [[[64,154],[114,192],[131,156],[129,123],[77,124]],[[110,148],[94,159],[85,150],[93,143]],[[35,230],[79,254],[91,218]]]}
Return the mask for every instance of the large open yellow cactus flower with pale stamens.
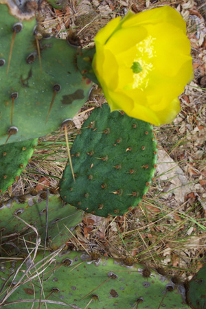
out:
{"label": "large open yellow cactus flower with pale stamens", "polygon": [[93,71],[111,111],[157,126],[172,122],[193,78],[186,23],[168,5],[110,21],[95,36]]}

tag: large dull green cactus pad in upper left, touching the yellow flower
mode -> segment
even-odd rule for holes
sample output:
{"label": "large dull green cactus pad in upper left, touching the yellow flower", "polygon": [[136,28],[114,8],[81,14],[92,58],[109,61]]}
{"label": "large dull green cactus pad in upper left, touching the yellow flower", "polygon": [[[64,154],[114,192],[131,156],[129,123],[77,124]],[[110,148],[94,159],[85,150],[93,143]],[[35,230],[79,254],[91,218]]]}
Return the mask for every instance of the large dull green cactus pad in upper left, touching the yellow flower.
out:
{"label": "large dull green cactus pad in upper left, touching the yellow flower", "polygon": [[[58,38],[38,41],[40,67],[36,21],[22,21],[22,30],[17,27],[19,32],[14,35],[12,29],[18,20],[8,13],[7,5],[0,6],[0,144],[4,144],[10,126],[19,130],[8,143],[40,137],[59,128],[87,101],[91,80],[82,77],[76,67],[76,48]],[[14,47],[8,69],[12,38]]]}

